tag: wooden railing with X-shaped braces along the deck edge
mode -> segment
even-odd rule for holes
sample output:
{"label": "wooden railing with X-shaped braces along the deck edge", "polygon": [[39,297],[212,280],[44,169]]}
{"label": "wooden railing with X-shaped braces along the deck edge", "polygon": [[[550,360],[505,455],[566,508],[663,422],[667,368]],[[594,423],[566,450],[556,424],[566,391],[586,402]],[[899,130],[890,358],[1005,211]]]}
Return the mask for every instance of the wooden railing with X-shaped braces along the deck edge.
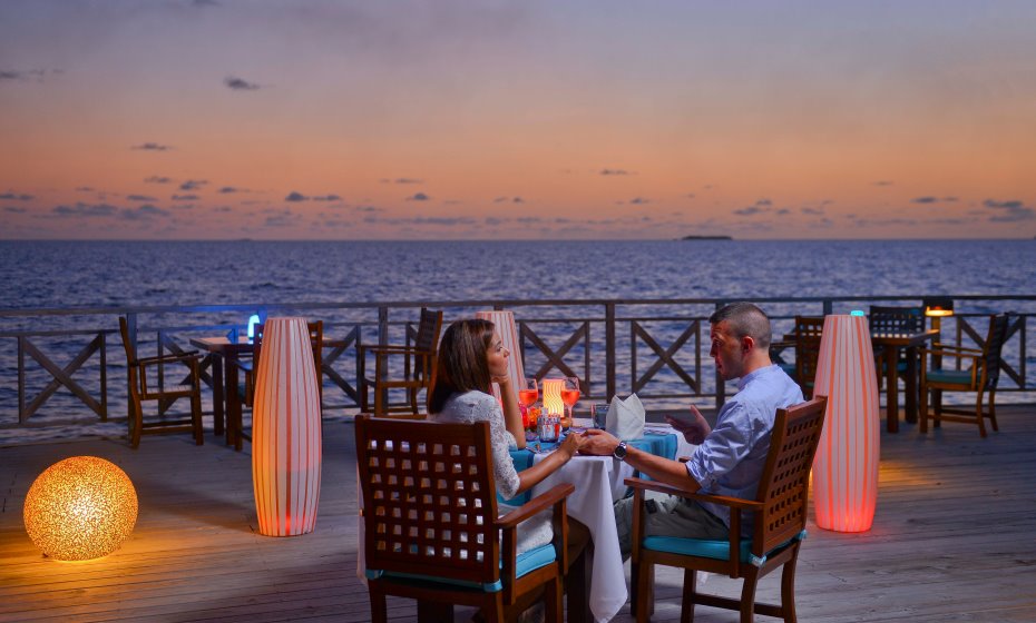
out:
{"label": "wooden railing with X-shaped braces along the deck edge", "polygon": [[[1026,379],[1027,324],[1036,296],[957,296],[957,315],[942,335],[980,344],[985,325],[976,317],[1015,310],[1005,347],[1000,395],[1030,400]],[[870,304],[918,305],[906,297],[803,297],[754,299],[771,315],[774,335],[786,333],[794,315],[848,313]],[[729,388],[708,358],[708,316],[721,299],[443,300],[391,303],[299,303],[75,309],[0,309],[0,427],[60,422],[61,414],[99,421],[126,413],[126,362],[117,335],[125,315],[134,337],[157,354],[189,350],[190,337],[245,330],[256,310],[324,320],[324,408],[359,409],[356,357],[362,344],[409,343],[422,306],[444,310],[446,322],[496,308],[515,312],[526,373],[578,376],[583,404],[636,393],[649,411],[688,400],[722,405]],[[114,340],[118,356],[107,356]],[[13,353],[12,353],[13,349]],[[203,379],[213,383],[212,358]],[[179,374],[170,370],[168,374]],[[13,374],[12,374],[13,373]],[[16,378],[17,377],[17,378]],[[173,379],[175,382],[178,379]],[[165,374],[159,383],[165,383]],[[114,387],[109,390],[109,384]],[[13,397],[17,389],[17,405]],[[60,393],[67,389],[67,393]],[[110,400],[109,400],[110,396]],[[211,398],[208,398],[211,400]],[[84,408],[86,407],[86,408]],[[211,406],[209,406],[211,411]],[[92,414],[92,415],[90,415]],[[81,417],[74,417],[81,422]]]}

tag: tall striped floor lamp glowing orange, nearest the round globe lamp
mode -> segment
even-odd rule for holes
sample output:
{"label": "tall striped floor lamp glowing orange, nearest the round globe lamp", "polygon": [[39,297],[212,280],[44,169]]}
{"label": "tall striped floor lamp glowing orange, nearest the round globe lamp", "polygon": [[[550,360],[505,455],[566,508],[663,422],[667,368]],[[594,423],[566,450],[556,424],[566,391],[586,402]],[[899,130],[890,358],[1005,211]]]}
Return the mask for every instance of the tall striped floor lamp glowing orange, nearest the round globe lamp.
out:
{"label": "tall striped floor lamp glowing orange, nearest the round globe lamp", "polygon": [[305,318],[268,318],[252,411],[252,484],[260,533],[313,532],[320,466],[320,392]]}

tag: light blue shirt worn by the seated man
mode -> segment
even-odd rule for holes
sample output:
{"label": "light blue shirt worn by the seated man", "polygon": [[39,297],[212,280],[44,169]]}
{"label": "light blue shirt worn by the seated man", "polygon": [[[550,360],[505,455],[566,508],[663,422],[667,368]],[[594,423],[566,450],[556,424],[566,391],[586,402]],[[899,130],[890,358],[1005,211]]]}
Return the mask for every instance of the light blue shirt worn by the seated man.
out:
{"label": "light blue shirt worn by the seated man", "polygon": [[[776,365],[745,375],[737,394],[720,409],[712,433],[687,462],[687,472],[702,485],[702,493],[755,500],[776,409],[802,402],[802,389]],[[727,506],[701,504],[730,526]],[[752,535],[752,515],[742,515],[743,537]]]}

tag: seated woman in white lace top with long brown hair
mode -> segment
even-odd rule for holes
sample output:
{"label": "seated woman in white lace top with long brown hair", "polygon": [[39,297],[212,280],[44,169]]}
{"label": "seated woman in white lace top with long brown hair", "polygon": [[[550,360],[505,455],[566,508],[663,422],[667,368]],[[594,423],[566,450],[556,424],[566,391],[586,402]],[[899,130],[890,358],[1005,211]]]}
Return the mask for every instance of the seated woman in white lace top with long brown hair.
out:
{"label": "seated woman in white lace top with long brown hair", "polygon": [[[428,413],[433,421],[489,422],[493,476],[497,493],[505,500],[539,484],[568,463],[583,443],[581,435],[568,435],[543,461],[522,472],[515,471],[509,451],[525,447],[525,428],[518,411],[518,398],[507,374],[508,356],[510,353],[504,347],[492,323],[481,319],[457,320],[442,335],[434,382],[428,393]],[[500,386],[502,408],[490,394],[492,382]],[[514,507],[500,504],[500,513],[507,513]],[[550,513],[540,513],[518,526],[518,553],[546,545],[553,537]],[[569,564],[579,558],[589,540],[587,527],[569,517]],[[516,621],[521,612],[539,599],[530,594],[528,599],[519,600],[507,609],[506,620]]]}

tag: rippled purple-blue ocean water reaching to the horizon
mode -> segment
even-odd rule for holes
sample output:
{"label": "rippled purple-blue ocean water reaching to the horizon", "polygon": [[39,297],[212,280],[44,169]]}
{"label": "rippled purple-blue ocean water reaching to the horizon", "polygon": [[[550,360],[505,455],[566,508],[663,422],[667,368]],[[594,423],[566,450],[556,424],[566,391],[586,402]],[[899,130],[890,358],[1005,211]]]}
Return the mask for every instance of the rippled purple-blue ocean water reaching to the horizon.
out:
{"label": "rippled purple-blue ocean water reaching to the horizon", "polygon": [[[559,298],[919,299],[926,295],[1034,294],[1036,240],[0,241],[3,310]],[[868,304],[853,306],[866,309]],[[819,304],[807,309],[780,303],[763,306],[775,316],[820,313]],[[1024,300],[958,300],[957,308],[975,314],[1005,309],[1036,313],[1036,304]],[[694,313],[707,316],[707,307]],[[550,310],[537,309],[537,314],[545,317]],[[322,316],[325,322],[350,319],[348,313],[329,312]],[[0,316],[0,332],[92,328],[110,320],[96,316]],[[219,324],[227,319],[195,317],[192,322]],[[549,336],[549,328],[543,330]],[[665,334],[664,328],[659,330]],[[782,330],[781,325],[778,330]],[[668,335],[672,337],[672,332]],[[81,340],[38,342],[49,348],[48,353],[56,353],[55,359],[61,365],[82,347]],[[1015,352],[1010,356],[1016,366],[1026,358],[1028,367],[1036,369],[1032,355]],[[125,413],[121,359],[118,339],[109,339],[109,412],[117,414]],[[526,362],[527,369],[535,365],[535,360]],[[98,385],[92,380],[97,375],[91,366],[96,367],[88,364],[77,378],[96,393],[91,387]],[[4,427],[21,428],[12,425],[18,413],[17,370],[17,342],[2,338],[0,437]],[[599,368],[596,374],[597,383],[602,383]],[[619,375],[619,385],[628,384],[628,374],[620,370]],[[1030,386],[1033,376],[1029,373]],[[29,375],[30,398],[49,379],[46,373]],[[1001,399],[1010,402],[1011,397]],[[62,388],[33,415],[32,422],[46,424],[50,418],[60,419],[66,412],[94,417]],[[81,434],[84,429],[76,431]]]}

